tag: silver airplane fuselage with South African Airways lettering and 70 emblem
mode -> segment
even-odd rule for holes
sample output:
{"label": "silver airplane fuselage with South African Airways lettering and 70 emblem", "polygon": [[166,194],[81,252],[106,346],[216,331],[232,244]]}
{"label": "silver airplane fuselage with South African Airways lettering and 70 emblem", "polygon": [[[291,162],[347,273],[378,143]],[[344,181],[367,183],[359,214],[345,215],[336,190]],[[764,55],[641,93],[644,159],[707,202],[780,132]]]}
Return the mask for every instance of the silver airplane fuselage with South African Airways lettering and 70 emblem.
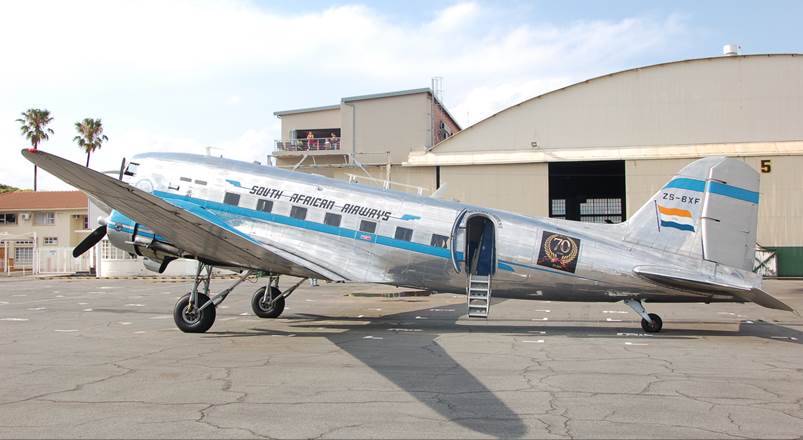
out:
{"label": "silver airplane fuselage with South African Airways lettering and 70 emblem", "polygon": [[[212,157],[151,153],[132,161],[136,172],[124,178],[131,185],[184,209],[212,213],[227,228],[298,253],[348,281],[465,293],[466,233],[455,223],[478,214],[495,232],[495,297],[733,301],[637,276],[637,266],[713,271],[715,265],[636,243],[621,224],[530,218]],[[133,227],[119,213],[111,220],[118,228]],[[274,270],[254,263],[255,269]]]}

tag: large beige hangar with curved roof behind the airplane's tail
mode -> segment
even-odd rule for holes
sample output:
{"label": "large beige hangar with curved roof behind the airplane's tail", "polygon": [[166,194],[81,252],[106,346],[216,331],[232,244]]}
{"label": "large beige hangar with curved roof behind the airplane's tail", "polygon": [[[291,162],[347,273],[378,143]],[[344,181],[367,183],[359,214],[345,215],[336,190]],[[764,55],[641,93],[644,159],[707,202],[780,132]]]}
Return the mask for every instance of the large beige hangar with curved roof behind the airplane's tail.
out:
{"label": "large beige hangar with curved roof behind the airplane's tail", "polygon": [[[411,151],[446,197],[532,216],[619,222],[686,164],[761,172],[758,244],[803,276],[803,55],[733,55],[616,72],[507,108]],[[427,177],[430,179],[431,177]]]}

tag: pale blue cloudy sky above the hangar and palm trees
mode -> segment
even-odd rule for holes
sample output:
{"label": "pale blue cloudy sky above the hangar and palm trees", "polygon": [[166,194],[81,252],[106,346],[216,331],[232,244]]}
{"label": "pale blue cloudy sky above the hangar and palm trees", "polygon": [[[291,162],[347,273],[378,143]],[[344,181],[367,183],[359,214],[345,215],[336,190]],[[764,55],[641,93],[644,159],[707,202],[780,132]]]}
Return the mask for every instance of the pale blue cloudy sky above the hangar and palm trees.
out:
{"label": "pale blue cloudy sky above the hangar and palm trees", "polygon": [[[75,122],[109,141],[90,166],[146,151],[265,163],[274,112],[429,87],[463,126],[628,68],[803,52],[803,2],[254,0],[0,2],[0,183],[33,187],[15,119],[50,110],[40,148],[83,163]],[[69,187],[45,172],[40,190]]]}

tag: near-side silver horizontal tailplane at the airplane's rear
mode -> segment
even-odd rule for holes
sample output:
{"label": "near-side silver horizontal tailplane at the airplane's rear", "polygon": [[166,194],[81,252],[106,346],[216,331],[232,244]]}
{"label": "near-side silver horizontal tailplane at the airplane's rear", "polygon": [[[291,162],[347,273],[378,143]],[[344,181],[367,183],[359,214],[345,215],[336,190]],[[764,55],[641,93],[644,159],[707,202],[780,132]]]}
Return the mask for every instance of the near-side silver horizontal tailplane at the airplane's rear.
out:
{"label": "near-side silver horizontal tailplane at the airplane's rear", "polygon": [[642,278],[663,286],[693,292],[732,295],[741,300],[754,302],[770,309],[786,310],[788,312],[795,311],[792,307],[776,299],[769,293],[749,285],[738,286],[718,282],[702,274],[668,267],[638,266],[633,268],[633,272]]}

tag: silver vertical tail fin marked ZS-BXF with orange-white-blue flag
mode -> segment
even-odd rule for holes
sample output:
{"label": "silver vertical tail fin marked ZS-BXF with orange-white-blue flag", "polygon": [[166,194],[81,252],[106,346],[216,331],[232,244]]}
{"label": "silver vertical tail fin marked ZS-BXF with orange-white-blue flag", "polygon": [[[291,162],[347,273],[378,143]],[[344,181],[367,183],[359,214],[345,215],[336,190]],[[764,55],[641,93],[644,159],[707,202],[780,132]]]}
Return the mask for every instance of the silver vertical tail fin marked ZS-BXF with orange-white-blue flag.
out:
{"label": "silver vertical tail fin marked ZS-BXF with orange-white-blue flag", "polygon": [[627,240],[752,270],[758,183],[737,159],[692,162],[627,221]]}

